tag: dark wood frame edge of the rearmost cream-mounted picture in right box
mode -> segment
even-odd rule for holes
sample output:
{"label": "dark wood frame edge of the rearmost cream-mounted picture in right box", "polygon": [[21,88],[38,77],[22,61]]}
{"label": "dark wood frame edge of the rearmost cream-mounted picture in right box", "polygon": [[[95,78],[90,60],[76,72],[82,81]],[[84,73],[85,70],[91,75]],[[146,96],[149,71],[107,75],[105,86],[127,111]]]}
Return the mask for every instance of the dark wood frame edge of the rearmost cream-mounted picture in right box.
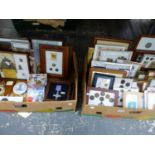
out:
{"label": "dark wood frame edge of the rearmost cream-mounted picture in right box", "polygon": [[131,50],[132,49],[132,45],[133,45],[133,41],[131,41],[131,40],[116,39],[116,38],[112,38],[112,37],[99,37],[99,36],[94,38],[94,45],[96,45],[97,40],[109,41],[109,42],[117,42],[117,43],[128,43],[129,46],[128,46],[127,50]]}

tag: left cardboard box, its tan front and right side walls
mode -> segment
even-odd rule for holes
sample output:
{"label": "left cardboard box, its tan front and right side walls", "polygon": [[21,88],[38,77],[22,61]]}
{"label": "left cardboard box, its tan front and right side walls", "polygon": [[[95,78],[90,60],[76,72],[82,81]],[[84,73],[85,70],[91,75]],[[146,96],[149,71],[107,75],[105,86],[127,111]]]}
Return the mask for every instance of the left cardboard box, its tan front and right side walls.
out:
{"label": "left cardboard box, its tan front and right side walls", "polygon": [[0,111],[3,112],[54,112],[54,111],[75,111],[77,104],[78,72],[76,54],[73,52],[73,68],[70,73],[74,81],[73,99],[66,101],[44,101],[44,102],[0,102]]}

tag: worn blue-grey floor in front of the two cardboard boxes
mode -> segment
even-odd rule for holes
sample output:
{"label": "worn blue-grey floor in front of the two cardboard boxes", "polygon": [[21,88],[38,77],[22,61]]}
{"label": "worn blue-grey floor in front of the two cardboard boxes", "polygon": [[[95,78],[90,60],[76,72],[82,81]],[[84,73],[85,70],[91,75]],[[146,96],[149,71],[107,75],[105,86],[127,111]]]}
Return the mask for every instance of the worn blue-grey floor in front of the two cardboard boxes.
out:
{"label": "worn blue-grey floor in front of the two cardboard boxes", "polygon": [[142,135],[155,134],[154,121],[104,119],[78,112],[0,113],[0,134],[7,135]]}

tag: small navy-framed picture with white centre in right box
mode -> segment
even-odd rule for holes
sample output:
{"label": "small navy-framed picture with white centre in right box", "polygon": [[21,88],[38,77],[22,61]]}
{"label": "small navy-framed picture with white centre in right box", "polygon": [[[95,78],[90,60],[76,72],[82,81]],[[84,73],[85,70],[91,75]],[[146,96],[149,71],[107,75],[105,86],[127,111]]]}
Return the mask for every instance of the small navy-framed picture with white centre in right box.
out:
{"label": "small navy-framed picture with white centre in right box", "polygon": [[112,89],[114,80],[115,80],[115,76],[95,73],[92,81],[92,87]]}

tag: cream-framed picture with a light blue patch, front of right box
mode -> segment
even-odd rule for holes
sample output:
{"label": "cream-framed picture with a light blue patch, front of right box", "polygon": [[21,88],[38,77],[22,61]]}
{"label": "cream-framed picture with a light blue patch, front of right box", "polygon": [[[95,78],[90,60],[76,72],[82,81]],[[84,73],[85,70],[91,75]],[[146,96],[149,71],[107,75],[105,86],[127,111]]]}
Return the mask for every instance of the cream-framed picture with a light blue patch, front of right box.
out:
{"label": "cream-framed picture with a light blue patch, front of right box", "polygon": [[123,95],[123,106],[128,109],[143,109],[144,94],[140,92],[125,92]]}

